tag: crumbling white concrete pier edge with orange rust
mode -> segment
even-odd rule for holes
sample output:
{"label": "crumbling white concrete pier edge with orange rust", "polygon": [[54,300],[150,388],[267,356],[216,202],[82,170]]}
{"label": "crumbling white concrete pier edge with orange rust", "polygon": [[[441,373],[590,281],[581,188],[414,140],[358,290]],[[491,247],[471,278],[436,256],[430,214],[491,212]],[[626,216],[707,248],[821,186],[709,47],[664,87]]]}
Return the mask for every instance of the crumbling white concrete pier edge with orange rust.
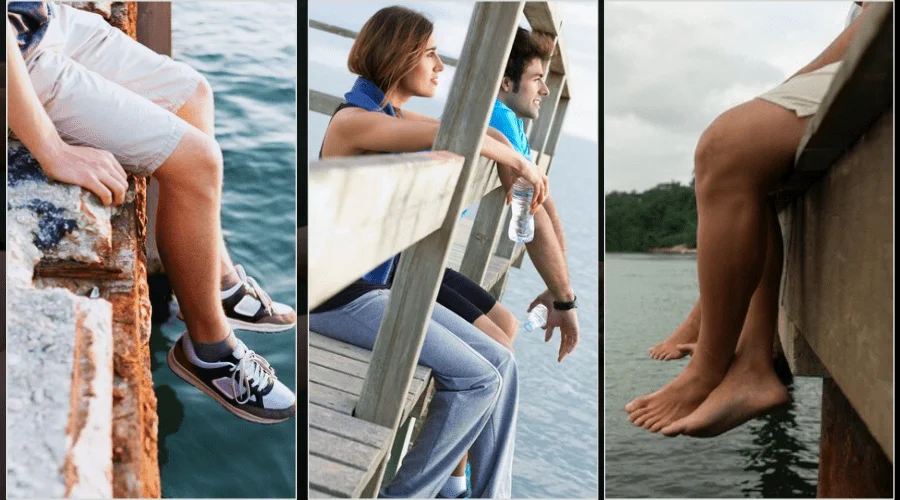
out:
{"label": "crumbling white concrete pier edge with orange rust", "polygon": [[[132,38],[135,2],[80,2]],[[106,208],[7,151],[10,498],[159,497],[146,182]]]}

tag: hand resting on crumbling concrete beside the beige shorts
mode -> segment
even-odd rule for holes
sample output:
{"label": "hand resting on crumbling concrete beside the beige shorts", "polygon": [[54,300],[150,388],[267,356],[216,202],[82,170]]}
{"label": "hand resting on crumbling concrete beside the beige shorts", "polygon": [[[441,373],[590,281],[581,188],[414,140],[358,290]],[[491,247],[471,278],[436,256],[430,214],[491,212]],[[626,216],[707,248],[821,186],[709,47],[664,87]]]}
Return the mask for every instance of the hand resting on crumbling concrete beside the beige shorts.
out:
{"label": "hand resting on crumbling concrete beside the beige shorts", "polygon": [[87,189],[104,206],[121,205],[125,201],[128,175],[108,151],[61,143],[35,157],[47,177]]}

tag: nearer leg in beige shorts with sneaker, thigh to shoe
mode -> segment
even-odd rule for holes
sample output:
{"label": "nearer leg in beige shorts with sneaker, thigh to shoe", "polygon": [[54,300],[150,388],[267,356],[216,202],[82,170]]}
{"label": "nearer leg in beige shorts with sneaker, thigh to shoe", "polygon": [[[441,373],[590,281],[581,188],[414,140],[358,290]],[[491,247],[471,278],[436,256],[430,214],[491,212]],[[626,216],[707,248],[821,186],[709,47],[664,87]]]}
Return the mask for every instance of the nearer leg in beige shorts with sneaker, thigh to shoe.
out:
{"label": "nearer leg in beige shorts with sneaker, thigh to shoe", "polygon": [[[188,325],[188,335],[176,342],[185,346],[187,355],[173,370],[241,418],[290,418],[296,398],[262,358],[235,338],[219,298],[218,144],[169,111],[55,51],[41,49],[26,63],[35,93],[63,140],[109,151],[129,173],[159,180],[160,256],[171,270]],[[180,353],[181,347],[177,350]],[[170,352],[170,366],[175,351]],[[226,391],[211,383],[228,367],[249,383],[238,394],[233,394],[234,387]],[[257,401],[264,399],[265,408],[246,405],[251,394]]]}

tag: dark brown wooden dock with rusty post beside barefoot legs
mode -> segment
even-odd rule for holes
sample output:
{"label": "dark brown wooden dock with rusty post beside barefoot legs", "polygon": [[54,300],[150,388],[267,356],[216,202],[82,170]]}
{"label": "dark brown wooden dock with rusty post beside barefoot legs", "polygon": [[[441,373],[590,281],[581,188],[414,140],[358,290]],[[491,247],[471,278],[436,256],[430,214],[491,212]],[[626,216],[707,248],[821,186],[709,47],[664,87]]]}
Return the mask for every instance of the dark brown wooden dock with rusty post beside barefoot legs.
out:
{"label": "dark brown wooden dock with rusty post beside barefoot legs", "polygon": [[776,193],[780,347],[823,377],[820,497],[893,495],[893,3],[874,3]]}

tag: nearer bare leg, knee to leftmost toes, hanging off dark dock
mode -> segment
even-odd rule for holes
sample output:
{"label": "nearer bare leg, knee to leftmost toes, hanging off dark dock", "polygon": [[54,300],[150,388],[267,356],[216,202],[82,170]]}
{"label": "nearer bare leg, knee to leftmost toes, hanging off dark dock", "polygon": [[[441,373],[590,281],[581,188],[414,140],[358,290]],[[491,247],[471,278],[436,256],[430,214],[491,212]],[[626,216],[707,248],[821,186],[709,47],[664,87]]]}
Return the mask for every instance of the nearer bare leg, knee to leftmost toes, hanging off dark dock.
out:
{"label": "nearer bare leg, knee to leftmost toes, hanging off dark dock", "polygon": [[722,114],[700,138],[700,335],[678,377],[626,405],[634,423],[661,430],[694,411],[725,377],[762,277],[766,193],[790,168],[805,125],[793,112],[755,99]]}

